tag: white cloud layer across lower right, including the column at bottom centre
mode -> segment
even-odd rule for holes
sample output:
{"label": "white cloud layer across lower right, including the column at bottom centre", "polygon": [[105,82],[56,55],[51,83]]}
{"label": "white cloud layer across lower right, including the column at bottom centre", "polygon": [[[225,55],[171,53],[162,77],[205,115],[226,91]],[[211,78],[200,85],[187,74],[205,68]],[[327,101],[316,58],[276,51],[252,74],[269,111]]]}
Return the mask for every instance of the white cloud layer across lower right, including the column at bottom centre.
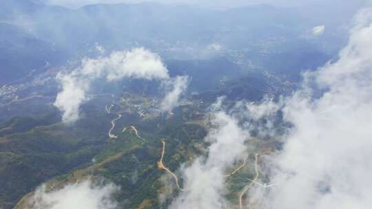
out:
{"label": "white cloud layer across lower right, including the column at bottom centre", "polygon": [[[258,181],[270,179],[276,185],[263,192],[262,186],[254,186],[247,208],[371,208],[371,37],[369,8],[355,17],[349,43],[338,60],[305,74],[302,88],[293,96],[238,108],[250,120],[271,120],[280,111],[284,122],[291,124],[284,135],[271,131],[276,128],[272,125],[262,129],[283,137],[285,144],[266,166],[261,164],[268,178],[261,175]],[[250,130],[237,121],[227,113],[216,113],[214,122],[219,125],[207,137],[209,153],[181,169],[186,190],[171,208],[234,208],[224,198],[222,173],[244,153]]]}

